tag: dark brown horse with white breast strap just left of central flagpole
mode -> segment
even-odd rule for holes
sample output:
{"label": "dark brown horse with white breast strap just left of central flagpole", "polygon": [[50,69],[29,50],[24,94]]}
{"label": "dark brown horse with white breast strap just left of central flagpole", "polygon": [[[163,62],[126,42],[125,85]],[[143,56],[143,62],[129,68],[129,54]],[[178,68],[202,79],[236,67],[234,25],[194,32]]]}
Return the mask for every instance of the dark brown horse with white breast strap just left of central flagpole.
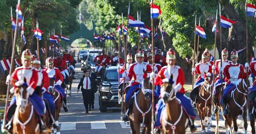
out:
{"label": "dark brown horse with white breast strap just left of central flagpole", "polygon": [[142,88],[134,93],[133,108],[129,112],[132,134],[140,134],[141,132],[142,134],[150,134],[151,132],[152,84],[149,78],[145,78],[141,85]]}

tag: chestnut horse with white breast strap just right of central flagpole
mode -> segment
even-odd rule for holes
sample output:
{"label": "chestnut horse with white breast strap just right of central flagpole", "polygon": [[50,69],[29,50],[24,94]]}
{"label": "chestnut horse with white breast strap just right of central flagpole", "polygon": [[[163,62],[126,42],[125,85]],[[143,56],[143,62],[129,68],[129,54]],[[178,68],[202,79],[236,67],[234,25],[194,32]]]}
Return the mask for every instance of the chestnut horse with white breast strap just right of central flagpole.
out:
{"label": "chestnut horse with white breast strap just right of central flagpole", "polygon": [[[172,78],[173,76],[171,75]],[[163,109],[163,115],[161,117],[162,134],[185,134],[189,120],[182,106],[179,104],[180,100],[176,99],[172,83],[163,83],[161,85],[161,91],[166,92],[163,96],[166,108]]]}

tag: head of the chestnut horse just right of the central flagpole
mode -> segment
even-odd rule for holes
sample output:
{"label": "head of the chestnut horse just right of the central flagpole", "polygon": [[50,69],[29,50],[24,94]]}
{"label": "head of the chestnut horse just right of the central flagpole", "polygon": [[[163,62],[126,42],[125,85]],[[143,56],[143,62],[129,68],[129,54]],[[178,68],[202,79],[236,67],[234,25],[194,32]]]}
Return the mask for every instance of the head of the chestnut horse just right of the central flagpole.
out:
{"label": "head of the chestnut horse just right of the central flagpole", "polygon": [[173,76],[168,79],[163,79],[163,84],[161,85],[161,96],[165,103],[167,103],[169,100],[173,100],[175,98],[175,91],[173,90],[173,83],[172,80]]}

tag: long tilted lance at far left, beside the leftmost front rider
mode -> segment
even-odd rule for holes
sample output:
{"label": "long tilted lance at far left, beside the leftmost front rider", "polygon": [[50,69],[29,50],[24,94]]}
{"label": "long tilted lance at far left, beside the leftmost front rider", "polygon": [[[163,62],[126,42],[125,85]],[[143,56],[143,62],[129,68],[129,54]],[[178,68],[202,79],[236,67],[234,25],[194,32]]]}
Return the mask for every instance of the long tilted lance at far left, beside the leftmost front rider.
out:
{"label": "long tilted lance at far left, beside the leftmost front rider", "polygon": [[[17,6],[20,5],[20,0],[18,0],[18,4]],[[11,8],[12,10],[12,8]],[[12,11],[11,11],[11,17],[12,17]],[[12,40],[12,57],[11,57],[11,68],[9,70],[9,76],[12,75],[12,70],[14,68],[14,57],[15,57],[15,40],[16,40],[16,34],[17,34],[17,24],[18,24],[18,11],[16,10],[16,22],[15,22],[15,30],[14,30],[14,38]],[[11,81],[8,80],[9,83],[7,85],[7,91],[6,91],[6,101],[5,101],[5,107],[4,107],[4,114],[3,114],[3,125],[2,125],[2,128],[1,128],[1,131],[4,132],[5,129],[5,125],[6,125],[6,108],[7,108],[7,103],[8,103],[8,97],[9,97],[9,90],[10,90],[10,84],[11,84]]]}

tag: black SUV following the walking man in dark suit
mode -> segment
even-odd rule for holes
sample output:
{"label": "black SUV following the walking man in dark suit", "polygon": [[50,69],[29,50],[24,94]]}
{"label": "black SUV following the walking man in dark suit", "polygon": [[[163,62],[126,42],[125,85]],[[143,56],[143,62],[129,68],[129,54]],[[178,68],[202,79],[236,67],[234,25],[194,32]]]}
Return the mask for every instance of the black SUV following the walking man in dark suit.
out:
{"label": "black SUV following the walking man in dark suit", "polygon": [[107,111],[107,107],[121,107],[118,104],[118,72],[116,66],[108,67],[99,86],[99,111]]}

